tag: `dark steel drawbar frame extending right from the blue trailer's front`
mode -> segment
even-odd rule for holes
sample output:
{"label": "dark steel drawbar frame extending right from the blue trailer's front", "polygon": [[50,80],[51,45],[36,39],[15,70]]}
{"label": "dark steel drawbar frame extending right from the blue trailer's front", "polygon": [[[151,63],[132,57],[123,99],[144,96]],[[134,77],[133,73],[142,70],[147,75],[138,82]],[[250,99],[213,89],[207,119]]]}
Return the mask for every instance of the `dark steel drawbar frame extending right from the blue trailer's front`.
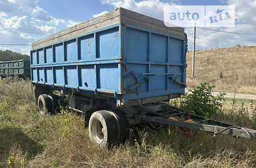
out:
{"label": "dark steel drawbar frame extending right from the blue trailer's front", "polygon": [[[226,124],[216,120],[205,119],[202,116],[189,114],[184,110],[175,107],[168,107],[168,114],[162,114],[150,110],[150,108],[143,107],[143,114],[141,120],[148,122],[148,124],[170,124],[171,126],[178,126],[181,128],[189,128],[192,130],[203,130],[205,132],[212,132],[216,134],[229,134],[235,137],[256,138],[256,130]],[[172,119],[170,119],[172,118]],[[175,120],[173,120],[173,118]],[[183,121],[181,120],[183,119]],[[186,120],[193,120],[193,122],[186,122]]]}

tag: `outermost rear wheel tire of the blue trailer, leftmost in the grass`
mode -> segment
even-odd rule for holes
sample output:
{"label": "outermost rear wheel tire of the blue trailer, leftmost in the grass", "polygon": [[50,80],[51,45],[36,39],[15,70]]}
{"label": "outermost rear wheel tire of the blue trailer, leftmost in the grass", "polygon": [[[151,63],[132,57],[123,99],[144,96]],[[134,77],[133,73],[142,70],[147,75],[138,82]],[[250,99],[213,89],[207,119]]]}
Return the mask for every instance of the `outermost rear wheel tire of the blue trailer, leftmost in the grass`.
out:
{"label": "outermost rear wheel tire of the blue trailer, leftmost in the grass", "polygon": [[37,106],[40,114],[51,114],[53,112],[52,104],[52,99],[48,95],[39,95]]}

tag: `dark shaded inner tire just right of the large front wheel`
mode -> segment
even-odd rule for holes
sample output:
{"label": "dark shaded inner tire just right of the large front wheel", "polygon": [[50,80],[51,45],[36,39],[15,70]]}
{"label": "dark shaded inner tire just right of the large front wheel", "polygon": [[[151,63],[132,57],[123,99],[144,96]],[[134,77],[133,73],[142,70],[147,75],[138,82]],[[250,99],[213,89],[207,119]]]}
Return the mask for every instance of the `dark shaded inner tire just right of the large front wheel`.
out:
{"label": "dark shaded inner tire just right of the large front wheel", "polygon": [[110,110],[110,114],[113,115],[117,120],[119,141],[125,143],[129,137],[129,128],[127,124],[127,119],[125,118],[125,114],[117,109]]}

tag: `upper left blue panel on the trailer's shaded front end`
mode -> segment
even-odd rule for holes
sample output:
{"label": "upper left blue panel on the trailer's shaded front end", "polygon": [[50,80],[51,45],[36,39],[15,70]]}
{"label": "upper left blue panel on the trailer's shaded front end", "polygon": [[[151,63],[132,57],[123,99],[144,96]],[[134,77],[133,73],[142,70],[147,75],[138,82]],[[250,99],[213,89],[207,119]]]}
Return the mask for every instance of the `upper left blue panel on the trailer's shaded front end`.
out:
{"label": "upper left blue panel on the trailer's shaded front end", "polygon": [[124,55],[127,60],[148,60],[148,33],[127,28],[125,32]]}

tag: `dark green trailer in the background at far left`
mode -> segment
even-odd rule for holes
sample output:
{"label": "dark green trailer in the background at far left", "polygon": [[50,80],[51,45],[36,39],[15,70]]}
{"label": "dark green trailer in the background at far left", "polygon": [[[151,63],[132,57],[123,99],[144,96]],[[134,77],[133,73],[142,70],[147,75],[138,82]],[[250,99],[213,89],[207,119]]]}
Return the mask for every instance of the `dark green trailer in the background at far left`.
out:
{"label": "dark green trailer in the background at far left", "polygon": [[11,60],[0,62],[0,77],[30,77],[30,60]]}

